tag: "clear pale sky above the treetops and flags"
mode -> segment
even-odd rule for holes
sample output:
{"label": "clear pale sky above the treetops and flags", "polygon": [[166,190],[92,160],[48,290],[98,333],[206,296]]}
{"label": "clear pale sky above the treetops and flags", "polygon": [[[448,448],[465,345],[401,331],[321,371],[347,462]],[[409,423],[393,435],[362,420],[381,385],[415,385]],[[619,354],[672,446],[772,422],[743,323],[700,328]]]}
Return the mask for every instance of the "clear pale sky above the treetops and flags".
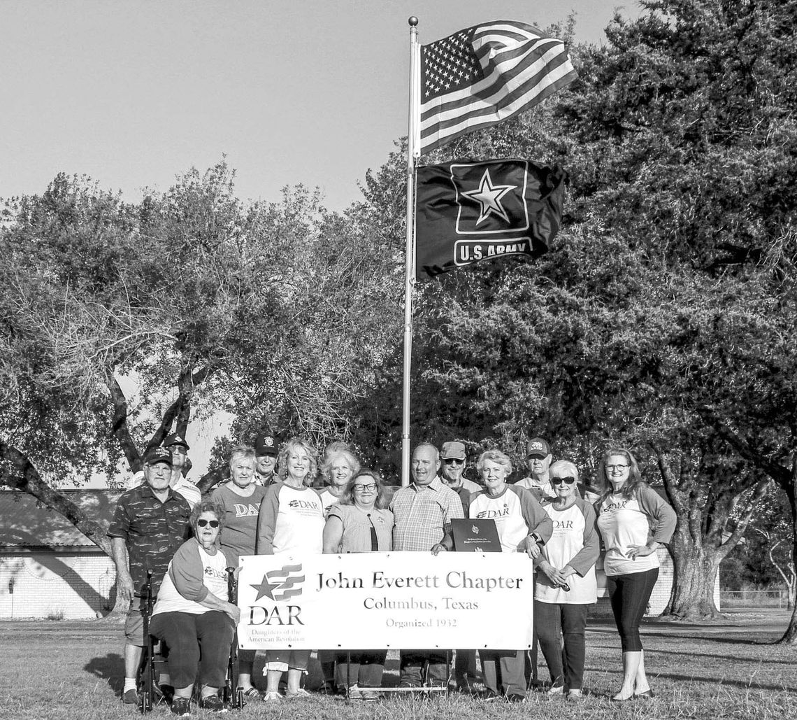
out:
{"label": "clear pale sky above the treetops and flags", "polygon": [[128,200],[226,155],[241,198],[319,186],[326,204],[406,135],[408,26],[422,43],[576,13],[599,43],[633,0],[0,0],[0,197],[59,171]]}

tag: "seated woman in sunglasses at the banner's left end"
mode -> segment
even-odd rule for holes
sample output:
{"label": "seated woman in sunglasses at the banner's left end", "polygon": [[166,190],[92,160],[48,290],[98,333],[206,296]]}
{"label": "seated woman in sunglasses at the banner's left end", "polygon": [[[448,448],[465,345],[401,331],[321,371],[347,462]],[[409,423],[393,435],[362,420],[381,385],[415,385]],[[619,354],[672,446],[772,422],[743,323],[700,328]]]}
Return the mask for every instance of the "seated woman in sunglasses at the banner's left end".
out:
{"label": "seated woman in sunglasses at the banner's left end", "polygon": [[175,687],[171,711],[181,717],[190,717],[197,666],[202,683],[199,706],[224,710],[218,690],[224,685],[241,612],[227,595],[230,563],[219,548],[222,517],[222,509],[209,500],[194,506],[190,517],[194,537],[171,559],[152,611],[150,632],[170,648],[169,675]]}

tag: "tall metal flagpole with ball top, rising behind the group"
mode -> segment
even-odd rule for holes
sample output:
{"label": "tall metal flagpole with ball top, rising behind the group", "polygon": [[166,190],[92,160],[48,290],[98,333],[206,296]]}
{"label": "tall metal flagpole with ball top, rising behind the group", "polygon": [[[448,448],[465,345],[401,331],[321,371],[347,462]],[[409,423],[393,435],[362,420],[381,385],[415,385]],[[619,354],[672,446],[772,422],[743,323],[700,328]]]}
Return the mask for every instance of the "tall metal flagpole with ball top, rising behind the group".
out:
{"label": "tall metal flagpole with ball top, rising behind the group", "polygon": [[412,289],[415,277],[415,136],[421,96],[421,51],[418,18],[410,24],[410,112],[406,138],[406,249],[404,269],[404,375],[402,383],[401,484],[410,484],[410,368],[412,366]]}

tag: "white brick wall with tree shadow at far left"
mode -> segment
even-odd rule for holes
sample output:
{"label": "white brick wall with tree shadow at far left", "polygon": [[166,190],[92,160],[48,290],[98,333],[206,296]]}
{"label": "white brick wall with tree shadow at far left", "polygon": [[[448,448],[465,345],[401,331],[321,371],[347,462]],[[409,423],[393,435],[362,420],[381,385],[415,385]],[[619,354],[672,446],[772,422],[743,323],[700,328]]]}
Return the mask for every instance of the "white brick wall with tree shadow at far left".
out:
{"label": "white brick wall with tree shadow at far left", "polygon": [[0,555],[0,619],[84,620],[108,613],[116,582],[104,553]]}

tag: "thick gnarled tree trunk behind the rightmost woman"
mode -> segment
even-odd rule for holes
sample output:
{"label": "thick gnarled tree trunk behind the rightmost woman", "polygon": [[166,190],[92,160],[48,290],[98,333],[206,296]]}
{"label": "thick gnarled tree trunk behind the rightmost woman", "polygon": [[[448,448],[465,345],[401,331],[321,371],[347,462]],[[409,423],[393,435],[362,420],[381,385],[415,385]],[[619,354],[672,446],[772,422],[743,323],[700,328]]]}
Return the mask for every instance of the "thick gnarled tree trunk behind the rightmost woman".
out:
{"label": "thick gnarled tree trunk behind the rightmost woman", "polygon": [[720,554],[695,545],[677,531],[670,543],[673,557],[673,594],[665,615],[677,620],[714,620],[722,616],[714,604],[714,587],[720,569]]}

